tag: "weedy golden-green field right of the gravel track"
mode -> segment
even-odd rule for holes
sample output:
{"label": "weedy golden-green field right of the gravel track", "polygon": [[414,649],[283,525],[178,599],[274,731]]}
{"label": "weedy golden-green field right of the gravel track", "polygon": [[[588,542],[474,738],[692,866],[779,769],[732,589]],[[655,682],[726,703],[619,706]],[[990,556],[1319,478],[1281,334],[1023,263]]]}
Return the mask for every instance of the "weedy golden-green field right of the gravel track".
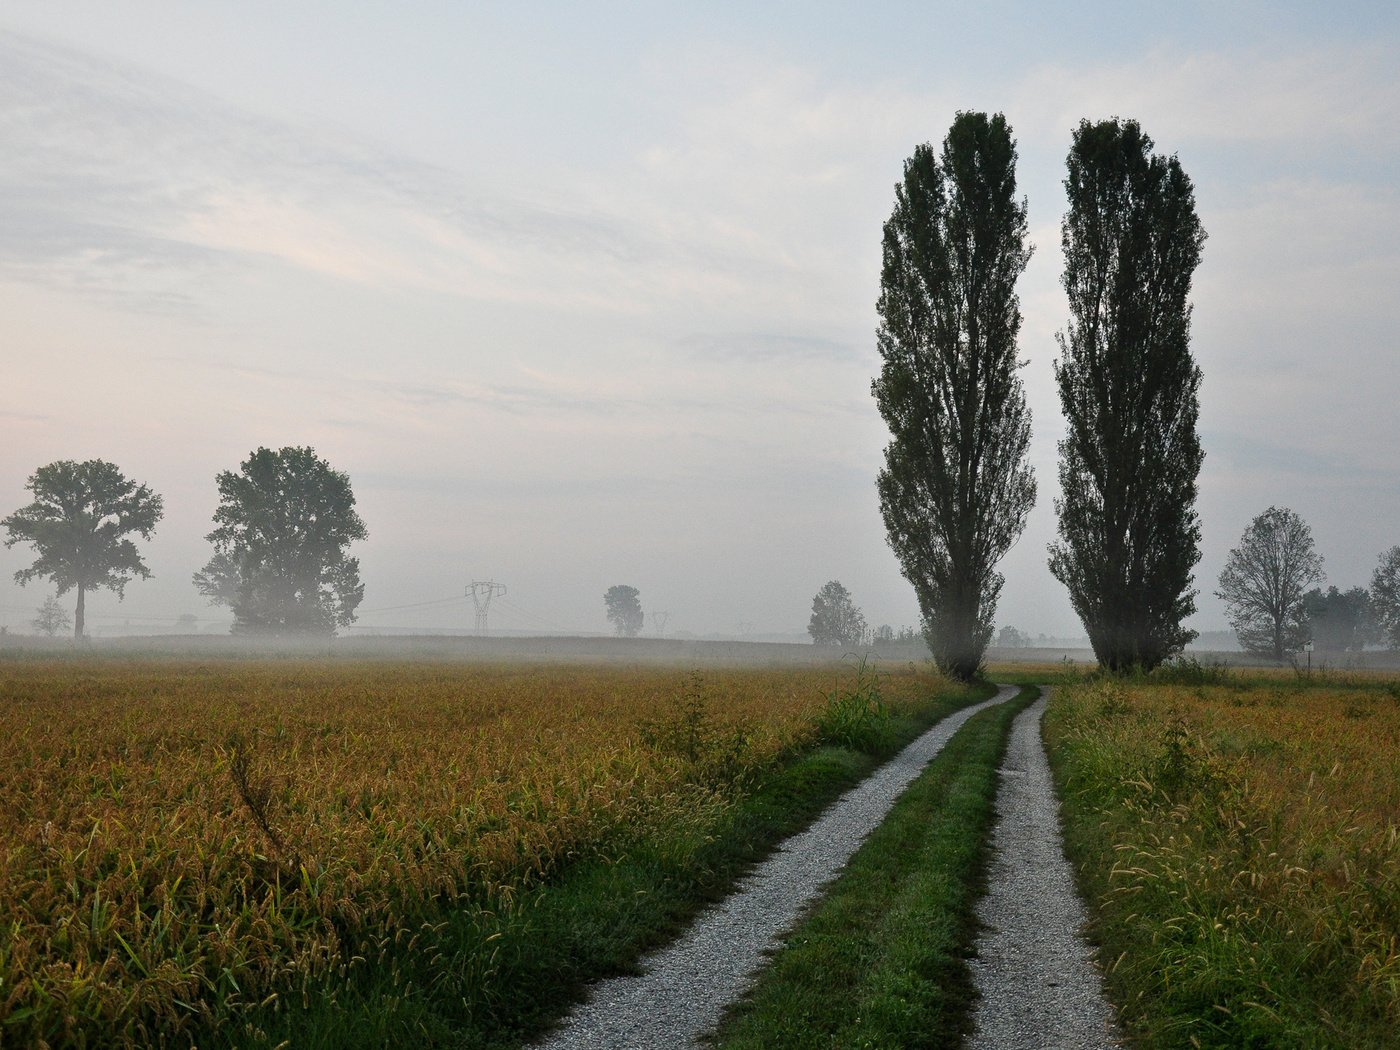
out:
{"label": "weedy golden-green field right of the gravel track", "polygon": [[1044,721],[1106,983],[1148,1047],[1394,1047],[1400,682],[1085,676]]}

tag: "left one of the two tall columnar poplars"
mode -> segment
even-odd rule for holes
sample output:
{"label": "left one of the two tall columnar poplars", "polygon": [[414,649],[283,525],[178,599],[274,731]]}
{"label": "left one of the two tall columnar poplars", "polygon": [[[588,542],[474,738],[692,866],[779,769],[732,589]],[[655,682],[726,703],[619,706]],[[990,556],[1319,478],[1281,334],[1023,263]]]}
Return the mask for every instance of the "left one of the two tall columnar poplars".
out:
{"label": "left one of the two tall columnar poplars", "polygon": [[895,188],[872,392],[890,430],[878,480],[889,545],[934,658],[963,679],[991,638],[995,564],[1036,498],[1016,360],[1029,258],[1011,129],[1001,113],[958,113],[941,158],[917,147]]}

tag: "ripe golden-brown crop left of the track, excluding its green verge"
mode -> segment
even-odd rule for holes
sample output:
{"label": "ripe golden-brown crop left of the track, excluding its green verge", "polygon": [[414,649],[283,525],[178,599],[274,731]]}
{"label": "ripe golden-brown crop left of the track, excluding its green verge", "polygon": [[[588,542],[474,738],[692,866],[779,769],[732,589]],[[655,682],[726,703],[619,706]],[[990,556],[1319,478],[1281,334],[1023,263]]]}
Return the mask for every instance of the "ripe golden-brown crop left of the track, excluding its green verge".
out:
{"label": "ripe golden-brown crop left of the track, excluding its green verge", "polygon": [[[815,745],[833,678],[7,664],[0,1043],[188,1044],[431,944],[448,911],[505,913],[570,865],[703,840]],[[883,703],[927,685],[886,675]],[[470,963],[489,980],[489,952]]]}

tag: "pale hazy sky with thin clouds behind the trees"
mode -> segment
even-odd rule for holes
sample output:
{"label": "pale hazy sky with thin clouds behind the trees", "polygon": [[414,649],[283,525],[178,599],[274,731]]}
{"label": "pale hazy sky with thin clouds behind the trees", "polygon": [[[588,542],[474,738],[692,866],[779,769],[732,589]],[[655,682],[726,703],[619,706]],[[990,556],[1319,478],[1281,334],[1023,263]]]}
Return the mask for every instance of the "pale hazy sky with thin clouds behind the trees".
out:
{"label": "pale hazy sky with thin clouds behind the trees", "polygon": [[[997,615],[1082,633],[1046,567],[1064,157],[1133,118],[1196,183],[1200,630],[1270,505],[1329,582],[1400,543],[1400,13],[1375,3],[414,4],[0,10],[0,514],[56,459],[165,500],[95,631],[199,617],[214,476],[349,473],[365,627],[802,633],[827,580],[918,610],[869,395],[914,146],[1004,112],[1039,500]],[[48,591],[0,549],[0,623]],[[648,631],[651,626],[648,624]]]}

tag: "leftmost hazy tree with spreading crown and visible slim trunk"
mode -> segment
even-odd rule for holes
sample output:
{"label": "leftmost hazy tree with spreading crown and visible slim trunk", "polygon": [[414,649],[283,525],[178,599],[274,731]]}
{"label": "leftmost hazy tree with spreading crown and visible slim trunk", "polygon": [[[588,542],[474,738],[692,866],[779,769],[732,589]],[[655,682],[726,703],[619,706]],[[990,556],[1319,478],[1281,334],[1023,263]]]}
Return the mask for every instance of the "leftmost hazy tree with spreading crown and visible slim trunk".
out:
{"label": "leftmost hazy tree with spreading crown and visible slim trunk", "polygon": [[73,637],[81,638],[88,591],[105,587],[120,599],[134,577],[150,580],[150,570],[127,536],[151,538],[161,519],[161,497],[129,482],[102,459],[60,459],[41,466],[25,489],[34,503],[0,525],[10,532],[7,547],[29,543],[39,559],[14,578],[27,584],[48,577],[60,598],[77,589]]}

